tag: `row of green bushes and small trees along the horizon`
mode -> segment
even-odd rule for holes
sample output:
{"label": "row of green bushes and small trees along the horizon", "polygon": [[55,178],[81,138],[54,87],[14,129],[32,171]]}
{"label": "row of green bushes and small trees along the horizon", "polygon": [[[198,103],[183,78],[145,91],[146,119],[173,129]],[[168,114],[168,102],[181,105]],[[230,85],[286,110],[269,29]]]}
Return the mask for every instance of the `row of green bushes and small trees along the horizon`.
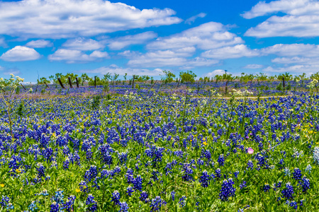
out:
{"label": "row of green bushes and small trees along the horizon", "polygon": [[[197,75],[193,71],[181,71],[179,73],[179,78],[172,73],[172,71],[164,70],[162,75],[160,76],[161,83],[172,83],[173,81],[177,83],[194,83],[196,81]],[[45,77],[38,78],[38,84],[50,84],[50,83],[59,83],[59,79],[61,83],[69,83],[69,79],[72,84],[75,84],[76,81],[80,83],[82,86],[87,83],[89,86],[101,86],[101,85],[118,85],[128,83],[131,85],[134,82],[146,83],[149,81],[150,83],[154,83],[154,78],[152,76],[147,75],[133,75],[131,78],[128,78],[128,74],[125,73],[122,80],[119,78],[118,73],[106,73],[103,76],[94,76],[89,77],[87,73],[82,73],[81,76],[75,73],[67,73],[63,75],[62,73],[55,73],[55,75],[49,76],[48,79]],[[259,74],[247,74],[241,73],[240,76],[233,76],[231,73],[217,74],[213,77],[204,76],[199,78],[197,81],[201,82],[230,82],[230,81],[240,81],[242,83],[248,83],[250,81],[304,81],[309,79],[319,79],[319,72],[312,74],[310,77],[306,76],[306,73],[300,74],[298,76],[293,76],[291,73],[281,73],[279,75],[267,76],[265,73]]]}

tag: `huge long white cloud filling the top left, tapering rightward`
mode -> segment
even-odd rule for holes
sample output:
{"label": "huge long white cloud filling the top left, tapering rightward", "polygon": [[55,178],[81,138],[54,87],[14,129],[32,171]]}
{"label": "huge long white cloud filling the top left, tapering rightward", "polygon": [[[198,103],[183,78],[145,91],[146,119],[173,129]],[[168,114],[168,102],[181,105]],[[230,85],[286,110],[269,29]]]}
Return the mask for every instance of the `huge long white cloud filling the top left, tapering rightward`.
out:
{"label": "huge long white cloud filling the top left, tapering rightward", "polygon": [[0,34],[66,38],[180,23],[175,11],[102,0],[0,1]]}

